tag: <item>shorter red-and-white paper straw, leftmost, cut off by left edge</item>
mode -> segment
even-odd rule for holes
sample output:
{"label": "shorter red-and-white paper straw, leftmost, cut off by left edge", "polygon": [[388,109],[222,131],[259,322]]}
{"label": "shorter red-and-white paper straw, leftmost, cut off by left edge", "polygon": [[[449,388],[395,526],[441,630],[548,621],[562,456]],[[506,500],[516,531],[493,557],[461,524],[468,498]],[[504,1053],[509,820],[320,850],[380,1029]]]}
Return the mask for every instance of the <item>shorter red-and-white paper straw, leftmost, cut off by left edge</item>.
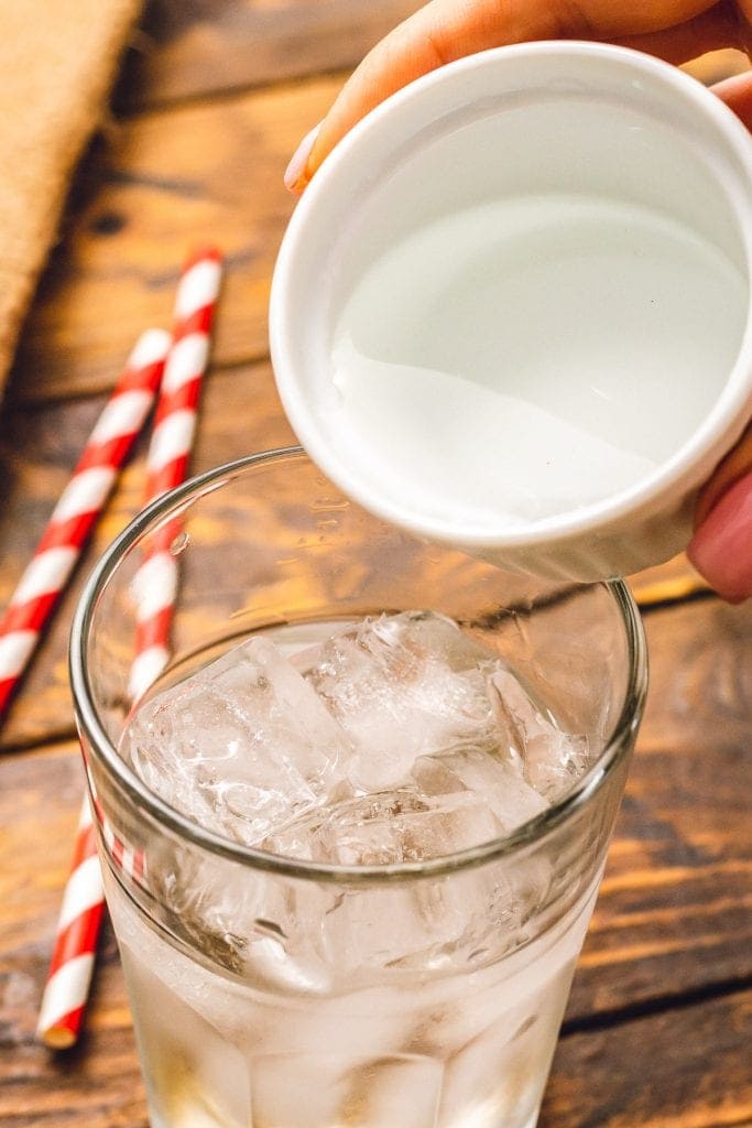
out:
{"label": "shorter red-and-white paper straw, leftmost, cut off by left edge", "polygon": [[0,622],[0,717],[153,403],[169,335],[149,329],[89,435],[83,453]]}

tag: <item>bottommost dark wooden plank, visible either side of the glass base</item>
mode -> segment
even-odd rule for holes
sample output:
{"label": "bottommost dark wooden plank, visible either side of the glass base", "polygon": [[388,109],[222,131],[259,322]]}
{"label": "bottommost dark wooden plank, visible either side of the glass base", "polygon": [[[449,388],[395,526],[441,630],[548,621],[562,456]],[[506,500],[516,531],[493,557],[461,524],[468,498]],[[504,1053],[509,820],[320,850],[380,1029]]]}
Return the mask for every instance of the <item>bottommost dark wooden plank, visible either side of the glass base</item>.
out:
{"label": "bottommost dark wooden plank, visible either side of the glass base", "polygon": [[[24,992],[21,985],[20,993]],[[28,988],[26,988],[28,989]],[[10,1029],[19,1032],[18,996]],[[112,1006],[105,1019],[101,1001]],[[52,1057],[28,1038],[0,1059],[6,1128],[147,1128],[143,1086],[112,937],[89,1032]],[[752,1122],[752,993],[559,1042],[539,1128],[731,1128]],[[5,1082],[5,1084],[2,1084]]]}

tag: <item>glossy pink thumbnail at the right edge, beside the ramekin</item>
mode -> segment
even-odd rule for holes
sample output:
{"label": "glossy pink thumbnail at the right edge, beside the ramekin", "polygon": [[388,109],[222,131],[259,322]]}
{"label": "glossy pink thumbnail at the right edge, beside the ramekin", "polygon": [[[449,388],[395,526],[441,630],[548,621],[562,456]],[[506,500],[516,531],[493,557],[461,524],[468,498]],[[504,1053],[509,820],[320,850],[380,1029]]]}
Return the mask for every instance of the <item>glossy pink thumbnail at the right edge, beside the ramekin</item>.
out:
{"label": "glossy pink thumbnail at the right edge, beside the ramekin", "polygon": [[687,555],[728,602],[741,603],[752,596],[752,473],[738,478],[716,502]]}

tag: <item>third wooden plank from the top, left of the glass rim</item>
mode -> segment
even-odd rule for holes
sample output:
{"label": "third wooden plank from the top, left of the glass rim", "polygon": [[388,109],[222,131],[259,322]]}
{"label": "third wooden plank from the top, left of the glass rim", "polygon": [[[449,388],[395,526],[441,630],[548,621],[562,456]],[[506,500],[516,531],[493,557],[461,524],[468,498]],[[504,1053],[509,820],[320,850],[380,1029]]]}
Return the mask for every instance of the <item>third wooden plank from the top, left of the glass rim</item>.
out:
{"label": "third wooden plank from the top, left of the glass rim", "polygon": [[[0,607],[9,600],[104,403],[105,397],[92,397],[33,411],[7,405],[0,416],[0,474],[5,485]],[[192,461],[196,474],[293,441],[268,363],[207,374]],[[145,442],[141,442],[61,599],[0,729],[0,748],[60,739],[73,731],[67,666],[73,609],[92,564],[141,505],[144,450]]]}

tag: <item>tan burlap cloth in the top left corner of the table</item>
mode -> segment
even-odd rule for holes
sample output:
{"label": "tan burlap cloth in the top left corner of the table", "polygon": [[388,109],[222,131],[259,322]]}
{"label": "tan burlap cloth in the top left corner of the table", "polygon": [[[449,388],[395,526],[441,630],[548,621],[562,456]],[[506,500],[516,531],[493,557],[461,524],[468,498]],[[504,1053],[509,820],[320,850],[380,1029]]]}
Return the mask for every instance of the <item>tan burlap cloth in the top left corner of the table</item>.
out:
{"label": "tan burlap cloth in the top left corner of the table", "polygon": [[0,394],[141,0],[0,5]]}

